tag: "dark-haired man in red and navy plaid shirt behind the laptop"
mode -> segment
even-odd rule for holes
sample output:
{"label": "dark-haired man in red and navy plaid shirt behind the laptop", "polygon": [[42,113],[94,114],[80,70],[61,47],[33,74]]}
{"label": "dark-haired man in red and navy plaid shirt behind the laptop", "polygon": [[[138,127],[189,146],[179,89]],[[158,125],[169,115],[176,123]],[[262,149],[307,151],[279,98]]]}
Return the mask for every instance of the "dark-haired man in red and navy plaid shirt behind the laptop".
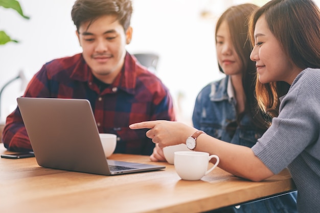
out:
{"label": "dark-haired man in red and navy plaid shirt behind the laptop", "polygon": [[[87,99],[99,132],[117,134],[116,153],[151,155],[147,130],[129,125],[175,115],[166,86],[125,49],[131,14],[130,0],[77,0],[71,15],[83,52],[45,63],[24,97]],[[7,117],[3,142],[10,151],[32,150],[18,108]]]}

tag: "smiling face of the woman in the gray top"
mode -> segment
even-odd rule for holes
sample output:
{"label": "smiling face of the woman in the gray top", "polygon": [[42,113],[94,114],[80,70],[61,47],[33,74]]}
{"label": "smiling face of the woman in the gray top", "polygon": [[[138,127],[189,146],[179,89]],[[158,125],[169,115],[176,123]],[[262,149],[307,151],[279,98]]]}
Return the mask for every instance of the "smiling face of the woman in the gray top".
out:
{"label": "smiling face of the woman in the gray top", "polygon": [[292,84],[301,69],[289,60],[281,43],[269,30],[264,15],[257,20],[254,35],[255,46],[250,59],[256,62],[259,81]]}

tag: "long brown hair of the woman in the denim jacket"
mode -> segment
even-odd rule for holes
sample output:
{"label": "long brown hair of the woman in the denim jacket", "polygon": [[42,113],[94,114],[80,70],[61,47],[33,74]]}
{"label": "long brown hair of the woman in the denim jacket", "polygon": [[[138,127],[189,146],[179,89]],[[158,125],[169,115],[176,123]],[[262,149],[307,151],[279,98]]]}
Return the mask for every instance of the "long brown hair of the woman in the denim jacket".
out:
{"label": "long brown hair of the woman in the denim jacket", "polygon": [[[218,19],[216,33],[223,21],[227,22],[232,37],[234,48],[242,62],[242,86],[246,96],[245,111],[238,114],[237,125],[247,114],[257,128],[266,130],[268,122],[265,121],[264,113],[260,110],[255,97],[256,64],[250,60],[252,45],[248,40],[248,19],[250,14],[257,9],[254,4],[241,4],[228,8]],[[220,72],[223,73],[219,65]]]}

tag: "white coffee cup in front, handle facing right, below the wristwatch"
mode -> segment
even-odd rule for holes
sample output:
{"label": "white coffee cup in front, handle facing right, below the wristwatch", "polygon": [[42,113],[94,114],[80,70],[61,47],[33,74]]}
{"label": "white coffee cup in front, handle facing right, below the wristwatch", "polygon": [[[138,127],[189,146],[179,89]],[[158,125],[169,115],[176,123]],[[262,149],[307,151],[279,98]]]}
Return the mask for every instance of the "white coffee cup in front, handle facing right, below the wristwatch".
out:
{"label": "white coffee cup in front, handle facing right, below the wristwatch", "polygon": [[[208,169],[209,161],[216,158],[217,161],[212,168]],[[209,174],[217,167],[219,157],[210,155],[207,152],[186,152],[174,153],[174,168],[182,180],[200,180],[204,175]]]}

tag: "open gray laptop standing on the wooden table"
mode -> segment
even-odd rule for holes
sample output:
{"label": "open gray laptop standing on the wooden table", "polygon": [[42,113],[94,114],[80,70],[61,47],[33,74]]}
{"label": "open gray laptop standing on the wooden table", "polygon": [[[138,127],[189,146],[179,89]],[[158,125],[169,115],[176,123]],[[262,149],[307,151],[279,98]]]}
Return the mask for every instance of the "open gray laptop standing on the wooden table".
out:
{"label": "open gray laptop standing on the wooden table", "polygon": [[41,167],[99,175],[166,168],[107,159],[88,100],[17,98],[17,103]]}

